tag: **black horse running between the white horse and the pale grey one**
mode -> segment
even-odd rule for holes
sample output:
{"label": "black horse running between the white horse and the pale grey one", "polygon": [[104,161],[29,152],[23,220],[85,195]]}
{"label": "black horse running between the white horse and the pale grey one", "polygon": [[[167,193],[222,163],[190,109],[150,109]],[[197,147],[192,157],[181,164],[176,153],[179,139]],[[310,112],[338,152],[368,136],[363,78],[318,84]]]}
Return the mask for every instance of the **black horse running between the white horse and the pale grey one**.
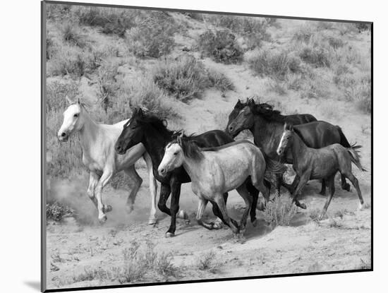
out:
{"label": "black horse running between the white horse and the pale grey one", "polygon": [[[135,109],[131,119],[123,126],[123,131],[116,141],[115,150],[119,154],[126,153],[128,148],[133,147],[138,143],[143,143],[145,149],[150,154],[154,169],[154,177],[161,183],[160,196],[158,207],[163,213],[171,216],[171,225],[166,232],[166,236],[174,236],[176,229],[176,214],[179,210],[179,197],[181,195],[181,184],[190,182],[191,179],[183,167],[174,169],[172,172],[161,177],[157,171],[157,167],[162,162],[164,156],[164,148],[177,133],[166,128],[166,121],[159,119],[152,114],[146,114],[142,109]],[[191,136],[190,140],[200,148],[216,147],[231,143],[234,141],[231,136],[221,130],[207,131],[199,136]],[[252,206],[256,207],[259,191],[247,180],[247,189],[253,197]],[[268,184],[268,183],[267,183]],[[171,195],[171,208],[166,207],[166,201]],[[227,193],[224,195],[226,201]],[[214,215],[219,217],[224,222],[222,213],[218,208],[217,203],[212,203]],[[255,221],[255,208],[250,209],[251,221]],[[224,222],[226,224],[226,222]],[[227,225],[227,224],[226,224]]]}

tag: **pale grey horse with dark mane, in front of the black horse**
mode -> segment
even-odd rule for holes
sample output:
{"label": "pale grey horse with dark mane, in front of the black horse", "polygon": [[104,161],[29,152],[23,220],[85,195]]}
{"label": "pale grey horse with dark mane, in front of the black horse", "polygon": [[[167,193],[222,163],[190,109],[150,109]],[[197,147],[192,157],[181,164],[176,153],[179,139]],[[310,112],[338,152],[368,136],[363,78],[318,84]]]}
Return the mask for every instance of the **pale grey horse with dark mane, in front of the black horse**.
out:
{"label": "pale grey horse with dark mane, in front of the black horse", "polygon": [[[243,234],[250,208],[255,209],[245,185],[248,178],[269,200],[269,189],[264,185],[265,159],[260,148],[249,140],[238,140],[217,148],[201,150],[193,140],[181,134],[166,145],[158,172],[160,176],[165,176],[182,166],[190,176],[193,193],[199,198],[196,217],[198,224],[208,229],[212,228],[212,224],[202,221],[202,214],[210,201],[218,206],[221,213],[217,216],[234,234]],[[240,226],[229,217],[223,198],[224,193],[233,189],[245,201]]]}

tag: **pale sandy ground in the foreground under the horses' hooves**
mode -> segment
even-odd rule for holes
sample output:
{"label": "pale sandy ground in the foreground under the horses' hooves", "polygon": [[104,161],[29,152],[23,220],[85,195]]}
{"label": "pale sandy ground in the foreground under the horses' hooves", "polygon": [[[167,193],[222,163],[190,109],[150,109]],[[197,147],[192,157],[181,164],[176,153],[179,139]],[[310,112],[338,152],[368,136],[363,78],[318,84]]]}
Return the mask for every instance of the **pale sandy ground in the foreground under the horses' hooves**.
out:
{"label": "pale sandy ground in the foreground under the horses' hooves", "polygon": [[[146,178],[145,170],[140,171]],[[65,185],[59,184],[59,189]],[[80,213],[85,210],[88,217],[94,217],[89,225],[78,225],[73,218],[68,218],[63,224],[51,222],[47,226],[48,288],[119,284],[118,280],[73,280],[90,268],[109,270],[112,265],[122,265],[123,249],[133,241],[142,246],[152,241],[159,253],[172,253],[177,272],[169,277],[145,277],[140,282],[352,270],[365,268],[365,263],[370,263],[370,208],[358,210],[356,193],[353,189],[350,193],[339,189],[339,181],[328,210],[329,219],[314,222],[309,217],[312,210],[322,208],[325,203],[325,197],[317,194],[320,184],[312,181],[302,198],[308,210],[299,209],[291,227],[267,225],[262,213],[257,212],[259,224],[257,227],[248,224],[243,239],[236,239],[226,227],[209,231],[196,224],[197,199],[190,184],[183,185],[181,194],[181,208],[190,215],[190,223],[178,220],[176,237],[165,238],[168,216],[159,212],[157,225],[147,225],[150,203],[147,185],[145,181],[131,215],[126,215],[123,209],[126,191],[108,190],[104,198],[114,210],[103,226],[97,223],[97,211],[87,196],[79,189],[71,193],[78,196]],[[365,201],[370,203],[369,187],[360,185]],[[241,217],[243,201],[235,191],[229,195],[228,208],[232,217]],[[339,210],[343,215],[334,217]],[[213,217],[208,207],[205,219]],[[199,260],[207,253],[212,253],[212,268],[200,270]]]}

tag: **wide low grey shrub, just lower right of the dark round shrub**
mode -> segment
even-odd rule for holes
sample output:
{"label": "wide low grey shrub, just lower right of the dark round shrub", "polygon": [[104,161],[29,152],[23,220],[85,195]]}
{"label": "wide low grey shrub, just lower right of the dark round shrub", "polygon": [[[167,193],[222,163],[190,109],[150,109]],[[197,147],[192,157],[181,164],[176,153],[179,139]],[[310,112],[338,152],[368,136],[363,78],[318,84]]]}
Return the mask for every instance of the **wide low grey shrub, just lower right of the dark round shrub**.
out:
{"label": "wide low grey shrub, just lower right of the dark round shrub", "polygon": [[288,73],[302,71],[301,59],[284,50],[260,50],[248,60],[248,63],[258,75],[279,80],[284,80]]}

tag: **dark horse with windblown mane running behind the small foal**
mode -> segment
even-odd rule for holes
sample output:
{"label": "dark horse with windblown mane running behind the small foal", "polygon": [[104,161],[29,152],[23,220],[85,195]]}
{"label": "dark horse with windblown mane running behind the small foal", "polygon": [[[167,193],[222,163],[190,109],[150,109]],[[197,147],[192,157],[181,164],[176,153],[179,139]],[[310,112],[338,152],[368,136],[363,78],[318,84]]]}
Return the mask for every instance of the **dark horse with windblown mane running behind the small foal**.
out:
{"label": "dark horse with windblown mane running behind the small foal", "polygon": [[[310,120],[313,121],[305,123]],[[285,122],[296,124],[294,126],[296,133],[301,136],[309,148],[323,148],[334,143],[340,143],[345,148],[351,147],[339,126],[334,126],[325,121],[316,121],[315,117],[310,114],[281,115],[271,105],[267,103],[256,104],[253,99],[245,103],[237,102],[235,109],[229,115],[226,131],[235,137],[244,129],[249,129],[253,133],[255,145],[261,148],[265,155],[273,160],[281,160],[284,158],[279,157],[276,150]],[[285,161],[289,164],[293,163],[291,152],[286,153]],[[279,184],[282,183],[292,193],[293,188],[281,181],[279,181]],[[345,177],[341,177],[341,181],[342,188],[349,191],[350,185],[346,183]],[[325,181],[322,181],[320,193],[326,193]],[[301,208],[305,208],[305,205],[302,205]]]}

